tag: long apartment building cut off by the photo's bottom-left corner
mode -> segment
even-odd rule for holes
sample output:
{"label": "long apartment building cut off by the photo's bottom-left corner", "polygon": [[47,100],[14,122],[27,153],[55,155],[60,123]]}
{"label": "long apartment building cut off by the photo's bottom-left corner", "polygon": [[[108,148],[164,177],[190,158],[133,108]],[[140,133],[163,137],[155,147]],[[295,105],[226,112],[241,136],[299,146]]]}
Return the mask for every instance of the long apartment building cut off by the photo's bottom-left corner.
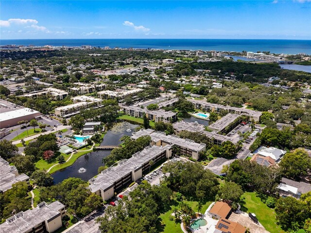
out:
{"label": "long apartment building cut off by the photo's bottom-left corner", "polygon": [[3,233],[52,233],[62,227],[65,205],[41,202],[32,210],[21,211],[0,225]]}

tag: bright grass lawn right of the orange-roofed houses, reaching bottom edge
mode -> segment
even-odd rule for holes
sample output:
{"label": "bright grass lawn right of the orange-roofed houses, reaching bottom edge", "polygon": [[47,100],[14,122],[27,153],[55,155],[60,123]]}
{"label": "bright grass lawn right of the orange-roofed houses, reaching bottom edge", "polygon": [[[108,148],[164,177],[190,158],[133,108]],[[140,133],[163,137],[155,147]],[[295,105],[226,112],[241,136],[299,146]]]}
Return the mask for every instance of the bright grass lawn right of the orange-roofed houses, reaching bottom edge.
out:
{"label": "bright grass lawn right of the orange-roofed houses, reaching bottom edge", "polygon": [[281,233],[281,227],[276,225],[276,213],[263,203],[254,192],[245,192],[241,197],[241,210],[248,213],[255,213],[259,222],[271,233]]}

